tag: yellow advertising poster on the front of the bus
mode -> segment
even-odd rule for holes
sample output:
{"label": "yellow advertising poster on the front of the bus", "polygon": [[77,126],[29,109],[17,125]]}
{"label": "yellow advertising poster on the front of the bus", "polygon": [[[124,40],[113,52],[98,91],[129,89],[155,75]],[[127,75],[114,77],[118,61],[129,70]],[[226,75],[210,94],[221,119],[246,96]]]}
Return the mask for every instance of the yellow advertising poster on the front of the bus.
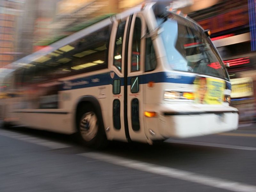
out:
{"label": "yellow advertising poster on the front of the bus", "polygon": [[194,85],[197,103],[219,105],[223,102],[224,80],[198,76],[194,81]]}

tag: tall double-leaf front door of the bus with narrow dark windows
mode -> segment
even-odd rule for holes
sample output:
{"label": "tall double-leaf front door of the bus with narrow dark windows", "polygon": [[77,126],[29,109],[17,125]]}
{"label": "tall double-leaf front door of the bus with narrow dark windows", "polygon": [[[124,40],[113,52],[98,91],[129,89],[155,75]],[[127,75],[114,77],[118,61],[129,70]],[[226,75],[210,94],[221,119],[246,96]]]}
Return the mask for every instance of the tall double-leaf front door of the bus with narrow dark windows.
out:
{"label": "tall double-leaf front door of the bus with narrow dark windows", "polygon": [[140,14],[116,20],[110,41],[112,78],[110,140],[146,142],[143,126],[142,73],[146,23]]}

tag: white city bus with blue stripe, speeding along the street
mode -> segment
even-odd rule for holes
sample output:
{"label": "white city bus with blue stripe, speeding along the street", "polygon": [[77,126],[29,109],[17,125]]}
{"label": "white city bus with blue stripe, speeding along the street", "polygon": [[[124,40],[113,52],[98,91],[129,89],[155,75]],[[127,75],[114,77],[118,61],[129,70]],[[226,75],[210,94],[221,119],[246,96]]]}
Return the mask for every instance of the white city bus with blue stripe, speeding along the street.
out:
{"label": "white city bus with blue stripe, speeding along the street", "polygon": [[10,65],[5,125],[154,144],[237,129],[231,84],[209,31],[148,3],[101,20]]}

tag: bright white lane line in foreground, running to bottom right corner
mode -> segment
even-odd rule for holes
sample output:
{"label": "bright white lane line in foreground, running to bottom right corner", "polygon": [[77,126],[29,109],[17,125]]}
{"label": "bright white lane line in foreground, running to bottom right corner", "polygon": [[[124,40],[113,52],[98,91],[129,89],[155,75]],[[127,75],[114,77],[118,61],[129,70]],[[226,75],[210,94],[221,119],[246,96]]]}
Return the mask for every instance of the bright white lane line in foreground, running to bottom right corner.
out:
{"label": "bright white lane line in foreground, running to bottom right corner", "polygon": [[116,164],[124,166],[131,169],[136,169],[144,172],[154,173],[158,175],[163,175],[166,177],[171,177],[180,180],[186,180],[201,185],[206,185],[214,188],[226,189],[235,192],[255,192],[256,186],[243,184],[239,182],[219,179],[215,177],[210,177],[206,175],[201,175],[193,172],[182,171],[179,169],[174,169],[171,167],[159,166],[156,164],[149,164],[141,161],[136,161],[132,159],[126,159],[123,157],[108,155],[104,153],[89,152],[77,154],[80,156],[90,157],[93,159],[105,161],[111,164]]}

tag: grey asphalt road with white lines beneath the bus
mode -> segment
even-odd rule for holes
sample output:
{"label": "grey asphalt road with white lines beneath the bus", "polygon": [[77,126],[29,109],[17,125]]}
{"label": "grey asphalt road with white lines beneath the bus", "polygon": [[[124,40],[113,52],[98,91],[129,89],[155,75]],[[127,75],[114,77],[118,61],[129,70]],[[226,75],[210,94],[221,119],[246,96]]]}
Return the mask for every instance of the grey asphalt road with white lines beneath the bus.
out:
{"label": "grey asphalt road with white lines beneath the bus", "polygon": [[0,129],[0,192],[256,192],[256,127],[84,148],[67,135]]}

